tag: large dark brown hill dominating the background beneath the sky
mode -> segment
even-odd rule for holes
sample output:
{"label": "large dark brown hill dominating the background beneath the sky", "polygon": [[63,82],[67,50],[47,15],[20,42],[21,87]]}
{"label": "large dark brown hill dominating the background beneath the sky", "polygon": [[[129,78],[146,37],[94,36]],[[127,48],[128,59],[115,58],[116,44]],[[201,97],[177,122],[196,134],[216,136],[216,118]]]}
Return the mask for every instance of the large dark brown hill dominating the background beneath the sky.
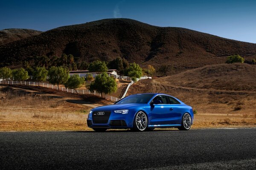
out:
{"label": "large dark brown hill dominating the background beneath the sky", "polygon": [[[252,59],[256,44],[217,37],[186,28],[157,27],[130,19],[105,19],[63,26],[0,46],[0,63],[18,65],[35,56],[73,54],[79,61],[129,62],[158,67],[173,65],[177,72],[223,63],[240,54]],[[169,73],[171,74],[171,73]]]}

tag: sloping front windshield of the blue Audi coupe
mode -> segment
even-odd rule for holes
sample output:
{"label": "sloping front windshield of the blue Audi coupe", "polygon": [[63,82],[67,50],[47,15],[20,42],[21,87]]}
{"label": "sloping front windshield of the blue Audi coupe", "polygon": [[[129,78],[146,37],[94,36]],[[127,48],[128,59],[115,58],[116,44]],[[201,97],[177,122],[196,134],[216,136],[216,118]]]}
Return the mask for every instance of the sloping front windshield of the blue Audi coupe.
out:
{"label": "sloping front windshield of the blue Audi coupe", "polygon": [[128,104],[128,103],[148,103],[148,101],[154,96],[154,94],[134,94],[131,96],[127,96],[118,102],[116,104]]}

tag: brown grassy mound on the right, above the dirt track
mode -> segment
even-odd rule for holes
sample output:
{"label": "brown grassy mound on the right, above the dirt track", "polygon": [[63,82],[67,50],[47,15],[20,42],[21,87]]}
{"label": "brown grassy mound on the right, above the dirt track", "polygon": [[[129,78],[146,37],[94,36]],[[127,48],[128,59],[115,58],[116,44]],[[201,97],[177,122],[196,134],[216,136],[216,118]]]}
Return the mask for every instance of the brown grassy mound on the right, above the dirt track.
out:
{"label": "brown grassy mound on the right, above the dirt track", "polygon": [[200,89],[256,92],[256,65],[219,64],[157,79],[164,84]]}

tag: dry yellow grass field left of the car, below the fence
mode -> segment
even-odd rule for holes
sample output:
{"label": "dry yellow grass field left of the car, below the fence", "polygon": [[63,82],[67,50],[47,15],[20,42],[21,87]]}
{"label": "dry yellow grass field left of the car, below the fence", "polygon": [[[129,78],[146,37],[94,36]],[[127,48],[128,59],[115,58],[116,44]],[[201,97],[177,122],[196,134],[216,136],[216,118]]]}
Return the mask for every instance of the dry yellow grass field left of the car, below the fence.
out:
{"label": "dry yellow grass field left of the car, below the fence", "polygon": [[0,98],[0,131],[89,130],[90,108],[66,97],[0,88]]}

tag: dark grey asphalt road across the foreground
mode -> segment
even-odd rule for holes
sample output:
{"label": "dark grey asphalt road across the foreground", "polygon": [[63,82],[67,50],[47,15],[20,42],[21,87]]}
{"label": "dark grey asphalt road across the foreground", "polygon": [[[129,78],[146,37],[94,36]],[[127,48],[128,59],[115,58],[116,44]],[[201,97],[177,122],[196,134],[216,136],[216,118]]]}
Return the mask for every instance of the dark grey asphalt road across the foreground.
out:
{"label": "dark grey asphalt road across the foreground", "polygon": [[0,133],[4,169],[256,169],[256,129]]}

